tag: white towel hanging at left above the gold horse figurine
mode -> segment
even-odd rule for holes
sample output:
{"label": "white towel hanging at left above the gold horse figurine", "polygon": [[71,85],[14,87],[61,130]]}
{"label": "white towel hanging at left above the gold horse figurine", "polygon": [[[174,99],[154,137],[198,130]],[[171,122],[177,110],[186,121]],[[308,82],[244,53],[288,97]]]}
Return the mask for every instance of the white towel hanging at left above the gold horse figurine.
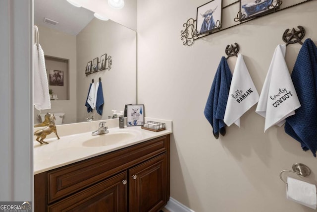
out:
{"label": "white towel hanging at left above the gold horse figurine", "polygon": [[33,102],[37,110],[51,109],[49,81],[45,67],[44,51],[40,44],[33,46]]}

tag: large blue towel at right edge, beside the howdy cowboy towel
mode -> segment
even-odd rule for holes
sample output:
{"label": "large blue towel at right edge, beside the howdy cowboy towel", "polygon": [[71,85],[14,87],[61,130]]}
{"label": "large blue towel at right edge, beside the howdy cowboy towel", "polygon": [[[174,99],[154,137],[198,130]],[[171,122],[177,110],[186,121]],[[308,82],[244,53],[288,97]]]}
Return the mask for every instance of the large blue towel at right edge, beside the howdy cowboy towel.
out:
{"label": "large blue towel at right edge, beside the howdy cowboy towel", "polygon": [[301,143],[303,150],[317,151],[317,47],[307,39],[291,74],[301,107],[286,119],[285,132]]}

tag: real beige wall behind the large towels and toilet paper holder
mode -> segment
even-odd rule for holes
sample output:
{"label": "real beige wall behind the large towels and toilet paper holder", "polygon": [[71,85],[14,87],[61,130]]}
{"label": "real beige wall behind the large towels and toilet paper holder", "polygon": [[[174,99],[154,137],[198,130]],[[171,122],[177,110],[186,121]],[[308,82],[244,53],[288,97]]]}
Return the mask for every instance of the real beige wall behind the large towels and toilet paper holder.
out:
{"label": "real beige wall behind the large towels and toilet paper holder", "polygon": [[[206,0],[138,0],[138,103],[149,117],[173,120],[170,195],[195,212],[310,212],[286,200],[283,169],[302,162],[312,169],[307,181],[317,184],[316,158],[300,143],[272,127],[252,107],[241,128],[227,128],[215,140],[203,111],[225,47],[240,45],[251,77],[261,92],[282,34],[302,25],[317,42],[317,1],[247,22],[183,46],[180,31]],[[284,3],[284,1],[283,1]],[[289,4],[287,1],[286,3]],[[237,11],[233,11],[233,17]],[[225,18],[226,16],[224,16]],[[289,70],[301,46],[287,46]],[[230,63],[235,58],[229,59]],[[151,87],[151,92],[149,90]],[[163,88],[163,92],[162,92]],[[295,177],[292,173],[286,176]]]}

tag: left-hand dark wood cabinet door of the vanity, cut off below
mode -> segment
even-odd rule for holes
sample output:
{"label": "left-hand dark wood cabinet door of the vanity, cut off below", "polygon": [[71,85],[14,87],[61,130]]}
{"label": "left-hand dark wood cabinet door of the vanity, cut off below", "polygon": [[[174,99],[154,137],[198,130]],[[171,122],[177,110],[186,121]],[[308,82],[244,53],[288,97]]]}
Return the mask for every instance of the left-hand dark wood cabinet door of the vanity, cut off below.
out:
{"label": "left-hand dark wood cabinet door of the vanity, cut off below", "polygon": [[127,172],[48,207],[48,212],[127,212]]}

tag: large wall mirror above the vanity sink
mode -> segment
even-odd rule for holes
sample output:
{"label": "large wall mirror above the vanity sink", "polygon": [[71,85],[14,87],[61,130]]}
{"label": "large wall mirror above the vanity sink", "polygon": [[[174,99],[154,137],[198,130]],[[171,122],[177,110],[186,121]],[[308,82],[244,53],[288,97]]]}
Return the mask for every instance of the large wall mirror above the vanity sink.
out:
{"label": "large wall mirror above the vanity sink", "polygon": [[[48,23],[52,20],[58,23]],[[50,75],[51,78],[53,74],[63,75],[62,83],[51,82],[50,89],[57,94],[57,99],[51,101],[51,109],[34,109],[34,123],[40,122],[39,113],[46,112],[64,113],[62,124],[84,122],[92,116],[94,121],[103,120],[112,115],[112,110],[123,111],[125,104],[136,103],[136,31],[111,18],[97,19],[93,11],[74,7],[66,0],[34,0],[34,25],[39,29],[49,81]],[[87,64],[96,58],[100,61],[105,54],[111,56],[111,69],[86,76]],[[88,113],[85,106],[93,79],[95,85],[99,79],[102,81],[105,102],[102,115],[96,110]]]}

